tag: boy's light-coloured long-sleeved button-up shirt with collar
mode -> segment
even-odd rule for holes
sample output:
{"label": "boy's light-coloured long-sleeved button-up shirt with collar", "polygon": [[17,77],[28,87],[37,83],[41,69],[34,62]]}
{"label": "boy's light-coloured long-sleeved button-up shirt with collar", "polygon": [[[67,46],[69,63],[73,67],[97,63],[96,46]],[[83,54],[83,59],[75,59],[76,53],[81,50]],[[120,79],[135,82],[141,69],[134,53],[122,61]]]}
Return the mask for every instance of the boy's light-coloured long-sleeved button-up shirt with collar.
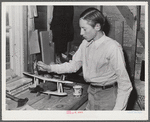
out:
{"label": "boy's light-coloured long-sleeved button-up shirt with collar", "polygon": [[118,83],[118,92],[114,110],[125,110],[132,91],[124,54],[121,45],[105,36],[96,41],[83,40],[71,61],[51,65],[51,71],[58,74],[73,73],[82,66],[83,77],[92,85]]}

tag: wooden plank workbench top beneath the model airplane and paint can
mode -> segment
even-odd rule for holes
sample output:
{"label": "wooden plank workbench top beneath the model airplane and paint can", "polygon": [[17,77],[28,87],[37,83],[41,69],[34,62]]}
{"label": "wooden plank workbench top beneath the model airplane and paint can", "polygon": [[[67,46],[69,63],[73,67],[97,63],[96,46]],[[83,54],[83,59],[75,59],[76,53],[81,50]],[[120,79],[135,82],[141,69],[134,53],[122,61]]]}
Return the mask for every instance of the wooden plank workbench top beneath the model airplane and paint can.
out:
{"label": "wooden plank workbench top beneath the model airplane and paint can", "polygon": [[73,95],[72,87],[64,87],[67,96],[51,95],[50,98],[46,94],[30,93],[29,90],[18,95],[18,98],[28,98],[28,102],[23,107],[17,107],[17,102],[6,98],[8,110],[77,110],[88,99],[86,83],[74,83],[74,85],[81,85],[83,87],[83,94],[77,98]]}

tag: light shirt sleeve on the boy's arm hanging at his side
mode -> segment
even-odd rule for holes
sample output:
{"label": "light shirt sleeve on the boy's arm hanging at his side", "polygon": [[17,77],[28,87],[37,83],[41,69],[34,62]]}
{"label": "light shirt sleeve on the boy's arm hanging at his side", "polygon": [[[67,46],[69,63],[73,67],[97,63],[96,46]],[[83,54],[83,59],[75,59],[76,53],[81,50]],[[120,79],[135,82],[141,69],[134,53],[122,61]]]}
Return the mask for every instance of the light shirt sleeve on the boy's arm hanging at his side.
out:
{"label": "light shirt sleeve on the boy's arm hanging at his side", "polygon": [[132,84],[126,70],[123,51],[120,45],[113,46],[110,63],[117,75],[118,93],[114,110],[126,110],[132,91]]}

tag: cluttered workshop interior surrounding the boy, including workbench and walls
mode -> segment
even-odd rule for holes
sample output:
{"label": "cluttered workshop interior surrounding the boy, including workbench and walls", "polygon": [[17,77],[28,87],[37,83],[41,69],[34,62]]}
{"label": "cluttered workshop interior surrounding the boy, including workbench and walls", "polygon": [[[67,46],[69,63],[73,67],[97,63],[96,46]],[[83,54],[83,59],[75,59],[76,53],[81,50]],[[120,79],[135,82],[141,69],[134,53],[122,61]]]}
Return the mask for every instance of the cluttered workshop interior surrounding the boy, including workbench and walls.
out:
{"label": "cluttered workshop interior surrounding the boy, including workbench and walls", "polygon": [[38,71],[37,62],[69,62],[83,40],[79,16],[95,7],[107,19],[105,34],[123,48],[133,85],[127,110],[144,111],[145,6],[54,7],[6,6],[6,110],[85,110],[89,83],[82,68],[70,74],[48,73]]}

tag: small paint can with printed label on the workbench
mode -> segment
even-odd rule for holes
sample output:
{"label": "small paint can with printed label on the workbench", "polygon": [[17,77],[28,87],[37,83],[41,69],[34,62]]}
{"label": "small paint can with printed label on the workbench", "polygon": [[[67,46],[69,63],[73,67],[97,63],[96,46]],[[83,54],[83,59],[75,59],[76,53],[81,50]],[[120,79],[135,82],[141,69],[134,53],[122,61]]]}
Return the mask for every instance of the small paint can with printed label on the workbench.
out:
{"label": "small paint can with printed label on the workbench", "polygon": [[82,95],[82,86],[81,85],[73,86],[73,95],[74,95],[74,97],[80,97]]}

